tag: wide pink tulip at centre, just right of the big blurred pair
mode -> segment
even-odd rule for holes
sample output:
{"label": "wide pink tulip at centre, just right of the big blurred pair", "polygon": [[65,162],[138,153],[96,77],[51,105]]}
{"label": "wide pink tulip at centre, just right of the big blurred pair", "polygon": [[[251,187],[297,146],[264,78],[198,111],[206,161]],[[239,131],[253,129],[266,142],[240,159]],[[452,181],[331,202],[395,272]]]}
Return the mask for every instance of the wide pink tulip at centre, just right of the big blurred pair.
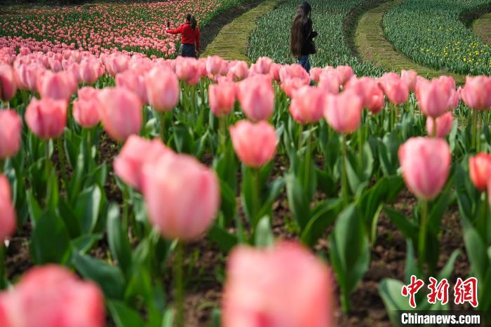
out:
{"label": "wide pink tulip at centre, just right of the big blurred pair", "polygon": [[260,168],[273,159],[278,136],[266,121],[238,121],[229,131],[235,153],[246,166]]}

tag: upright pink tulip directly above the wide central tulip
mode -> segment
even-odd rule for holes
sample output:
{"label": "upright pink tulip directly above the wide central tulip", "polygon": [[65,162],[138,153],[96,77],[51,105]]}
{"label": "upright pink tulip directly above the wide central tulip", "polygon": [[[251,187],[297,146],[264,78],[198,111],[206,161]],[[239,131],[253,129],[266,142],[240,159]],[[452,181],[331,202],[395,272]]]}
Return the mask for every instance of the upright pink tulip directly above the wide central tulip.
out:
{"label": "upright pink tulip directly above the wide central tulip", "polygon": [[274,90],[270,79],[262,76],[244,79],[238,84],[238,100],[248,119],[268,120],[274,110]]}

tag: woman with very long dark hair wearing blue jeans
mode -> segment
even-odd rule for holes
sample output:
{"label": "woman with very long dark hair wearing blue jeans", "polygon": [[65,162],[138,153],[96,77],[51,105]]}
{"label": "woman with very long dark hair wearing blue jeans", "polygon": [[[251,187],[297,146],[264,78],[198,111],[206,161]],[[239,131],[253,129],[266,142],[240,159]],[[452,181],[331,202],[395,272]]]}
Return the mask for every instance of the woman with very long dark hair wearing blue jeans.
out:
{"label": "woman with very long dark hair wearing blue jeans", "polygon": [[311,11],[312,7],[307,1],[298,6],[297,14],[293,18],[292,39],[290,42],[293,56],[297,58],[298,63],[307,72],[310,72],[309,55],[316,53],[314,37],[318,35],[317,32],[312,30]]}

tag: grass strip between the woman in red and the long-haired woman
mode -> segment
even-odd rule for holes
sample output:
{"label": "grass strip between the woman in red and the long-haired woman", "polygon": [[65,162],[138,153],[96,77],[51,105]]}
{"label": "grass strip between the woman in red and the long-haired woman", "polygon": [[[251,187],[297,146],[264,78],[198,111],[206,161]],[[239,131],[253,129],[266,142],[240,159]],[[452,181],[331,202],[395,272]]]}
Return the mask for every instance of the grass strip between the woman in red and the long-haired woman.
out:
{"label": "grass strip between the woman in red and the long-haired woman", "polygon": [[266,0],[259,6],[232,20],[222,27],[220,33],[208,44],[201,57],[220,55],[227,60],[245,60],[247,57],[250,34],[256,22],[264,14],[272,11],[283,0]]}

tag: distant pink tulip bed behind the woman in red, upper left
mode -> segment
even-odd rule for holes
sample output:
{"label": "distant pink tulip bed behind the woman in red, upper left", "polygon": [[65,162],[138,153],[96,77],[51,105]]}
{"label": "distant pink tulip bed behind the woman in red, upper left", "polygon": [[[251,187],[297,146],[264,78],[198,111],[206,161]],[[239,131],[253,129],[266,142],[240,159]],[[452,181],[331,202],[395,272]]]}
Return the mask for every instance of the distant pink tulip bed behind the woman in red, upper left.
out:
{"label": "distant pink tulip bed behind the woman in red, upper left", "polygon": [[[192,13],[201,25],[241,0],[162,1],[67,7],[18,8],[20,15],[0,17],[2,51],[27,47],[32,51],[90,51],[95,55],[123,51],[175,58],[176,27]],[[11,50],[13,49],[13,50]]]}

